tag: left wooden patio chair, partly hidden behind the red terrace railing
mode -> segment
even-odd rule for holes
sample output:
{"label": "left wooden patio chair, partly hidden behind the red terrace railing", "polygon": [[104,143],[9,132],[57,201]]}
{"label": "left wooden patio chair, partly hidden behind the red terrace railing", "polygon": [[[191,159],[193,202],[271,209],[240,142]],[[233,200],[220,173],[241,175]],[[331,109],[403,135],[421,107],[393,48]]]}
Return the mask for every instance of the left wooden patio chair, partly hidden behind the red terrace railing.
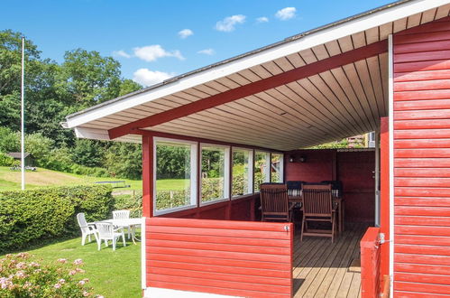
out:
{"label": "left wooden patio chair, partly hidden behind the red terrace railing", "polygon": [[288,188],[282,183],[263,183],[260,190],[262,221],[291,221]]}

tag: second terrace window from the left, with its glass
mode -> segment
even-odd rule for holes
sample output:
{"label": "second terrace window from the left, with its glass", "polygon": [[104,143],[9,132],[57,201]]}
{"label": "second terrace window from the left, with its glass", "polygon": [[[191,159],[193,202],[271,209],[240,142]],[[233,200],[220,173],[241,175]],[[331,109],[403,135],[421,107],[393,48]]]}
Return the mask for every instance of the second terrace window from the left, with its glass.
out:
{"label": "second terrace window from the left, with its glass", "polygon": [[230,149],[225,146],[201,146],[201,202],[229,198]]}

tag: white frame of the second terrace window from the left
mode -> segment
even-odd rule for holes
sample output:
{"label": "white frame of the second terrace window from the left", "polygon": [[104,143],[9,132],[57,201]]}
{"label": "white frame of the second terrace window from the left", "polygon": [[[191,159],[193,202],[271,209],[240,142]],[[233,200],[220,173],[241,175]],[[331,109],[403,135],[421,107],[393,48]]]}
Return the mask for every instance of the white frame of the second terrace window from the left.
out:
{"label": "white frame of the second terrace window from the left", "polygon": [[[202,152],[203,152],[203,148],[204,147],[216,147],[216,148],[224,148],[225,149],[225,156],[224,156],[224,198],[222,199],[216,199],[216,200],[207,200],[207,201],[203,201],[203,197],[202,197],[202,179],[203,177],[201,177],[201,168],[202,168]],[[221,201],[225,201],[225,200],[230,200],[230,146],[227,145],[223,145],[223,144],[210,144],[210,143],[200,143],[200,148],[199,148],[200,152],[199,152],[199,158],[198,158],[198,169],[200,169],[200,172],[198,173],[198,179],[200,180],[200,183],[198,183],[199,187],[198,187],[198,200],[199,200],[199,206],[206,206],[206,205],[210,205],[210,204],[215,204],[217,202],[221,202]]]}

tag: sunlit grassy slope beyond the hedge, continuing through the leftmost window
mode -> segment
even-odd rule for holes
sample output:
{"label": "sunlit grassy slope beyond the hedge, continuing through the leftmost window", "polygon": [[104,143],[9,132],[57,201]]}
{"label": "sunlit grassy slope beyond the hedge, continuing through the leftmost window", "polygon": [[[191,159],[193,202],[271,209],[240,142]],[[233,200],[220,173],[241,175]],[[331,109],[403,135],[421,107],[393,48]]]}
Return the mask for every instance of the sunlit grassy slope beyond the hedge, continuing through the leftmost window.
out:
{"label": "sunlit grassy slope beyond the hedge, continuing through the leftmost window", "polygon": [[[57,185],[78,185],[89,184],[102,181],[120,181],[124,180],[130,188],[115,190],[142,190],[141,180],[128,180],[119,178],[89,177],[71,174],[67,172],[57,172],[38,168],[36,172],[25,172],[26,188],[36,188]],[[159,190],[179,191],[184,188],[183,179],[166,179],[158,181]],[[9,167],[0,167],[0,191],[14,191],[21,189],[21,172],[11,171]]]}

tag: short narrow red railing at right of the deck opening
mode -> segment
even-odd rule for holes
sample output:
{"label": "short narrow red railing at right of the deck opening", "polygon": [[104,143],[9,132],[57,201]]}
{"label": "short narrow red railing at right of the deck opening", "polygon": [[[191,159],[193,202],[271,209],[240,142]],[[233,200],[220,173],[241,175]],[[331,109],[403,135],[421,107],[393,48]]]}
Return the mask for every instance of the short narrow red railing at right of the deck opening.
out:
{"label": "short narrow red railing at right of the deck opening", "polygon": [[361,239],[361,295],[378,297],[380,284],[380,228],[368,228]]}

